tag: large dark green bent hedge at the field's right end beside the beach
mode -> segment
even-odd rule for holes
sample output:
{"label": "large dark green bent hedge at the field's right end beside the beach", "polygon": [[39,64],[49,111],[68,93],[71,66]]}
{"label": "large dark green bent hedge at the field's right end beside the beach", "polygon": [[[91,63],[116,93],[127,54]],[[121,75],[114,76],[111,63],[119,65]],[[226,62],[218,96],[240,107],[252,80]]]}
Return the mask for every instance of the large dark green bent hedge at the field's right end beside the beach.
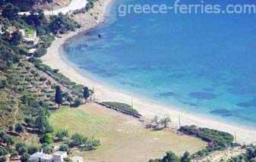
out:
{"label": "large dark green bent hedge at the field's right end beside the beach", "polygon": [[234,137],[228,132],[218,131],[216,129],[198,128],[197,126],[182,126],[179,131],[196,136],[205,142],[208,142],[206,148],[192,154],[193,158],[205,157],[213,151],[221,151],[232,145]]}

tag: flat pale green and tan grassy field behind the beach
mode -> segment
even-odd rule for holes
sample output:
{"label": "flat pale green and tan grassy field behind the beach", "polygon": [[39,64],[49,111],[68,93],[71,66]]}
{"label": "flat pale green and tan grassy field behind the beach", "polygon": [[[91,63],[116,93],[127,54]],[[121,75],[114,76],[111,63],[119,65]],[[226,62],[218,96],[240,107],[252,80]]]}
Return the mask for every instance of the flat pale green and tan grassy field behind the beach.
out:
{"label": "flat pale green and tan grassy field behind the beach", "polygon": [[95,136],[101,145],[95,151],[73,150],[87,161],[147,161],[163,157],[166,151],[176,154],[198,151],[206,143],[191,136],[181,136],[170,129],[153,131],[144,128],[134,117],[97,104],[78,108],[64,107],[50,117],[55,129],[68,129],[85,136]]}

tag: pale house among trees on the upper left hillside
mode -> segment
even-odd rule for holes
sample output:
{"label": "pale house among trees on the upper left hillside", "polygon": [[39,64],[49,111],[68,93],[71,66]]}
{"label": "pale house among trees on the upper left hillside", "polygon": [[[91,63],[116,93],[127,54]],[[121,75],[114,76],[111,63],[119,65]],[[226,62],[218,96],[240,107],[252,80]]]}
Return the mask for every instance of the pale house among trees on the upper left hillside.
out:
{"label": "pale house among trees on the upper left hillside", "polygon": [[25,45],[33,46],[38,43],[39,38],[36,36],[36,30],[20,30],[20,32]]}

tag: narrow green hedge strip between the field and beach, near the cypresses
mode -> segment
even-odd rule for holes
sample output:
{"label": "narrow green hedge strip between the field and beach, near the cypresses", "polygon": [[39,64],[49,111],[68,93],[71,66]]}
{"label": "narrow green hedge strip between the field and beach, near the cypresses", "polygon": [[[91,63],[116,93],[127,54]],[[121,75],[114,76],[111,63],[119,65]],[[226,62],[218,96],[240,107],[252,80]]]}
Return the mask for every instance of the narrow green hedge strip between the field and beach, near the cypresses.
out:
{"label": "narrow green hedge strip between the field and beach, near the cypresses", "polygon": [[141,114],[137,112],[133,107],[131,107],[129,104],[124,104],[120,102],[112,102],[112,101],[105,101],[103,104],[109,105],[109,107],[112,107],[112,109],[116,109],[117,111],[124,111],[127,113],[131,113],[132,115],[136,115],[138,117],[141,117]]}

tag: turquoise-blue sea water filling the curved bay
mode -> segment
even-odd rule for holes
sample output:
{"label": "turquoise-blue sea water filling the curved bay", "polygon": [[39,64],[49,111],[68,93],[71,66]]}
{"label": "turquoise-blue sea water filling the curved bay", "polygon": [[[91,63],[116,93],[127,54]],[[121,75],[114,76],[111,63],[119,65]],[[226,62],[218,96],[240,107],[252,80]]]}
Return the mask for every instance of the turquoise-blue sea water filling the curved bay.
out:
{"label": "turquoise-blue sea water filling the curved bay", "polygon": [[[208,1],[213,2],[224,3]],[[170,5],[163,0],[116,2],[106,25],[65,45],[65,58],[93,79],[135,95],[256,127],[255,15],[119,17],[117,3]]]}

